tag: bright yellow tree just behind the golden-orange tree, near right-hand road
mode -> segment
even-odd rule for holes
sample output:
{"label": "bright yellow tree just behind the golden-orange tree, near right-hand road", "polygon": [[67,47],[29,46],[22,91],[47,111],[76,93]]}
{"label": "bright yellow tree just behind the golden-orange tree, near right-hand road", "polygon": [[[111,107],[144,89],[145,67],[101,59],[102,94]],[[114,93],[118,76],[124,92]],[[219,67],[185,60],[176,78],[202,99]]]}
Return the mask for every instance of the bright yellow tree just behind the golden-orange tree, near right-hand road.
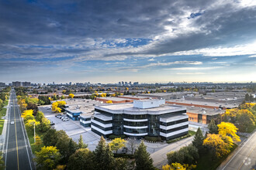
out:
{"label": "bright yellow tree just behind the golden-orange tree, near right-hand road", "polygon": [[219,134],[223,135],[223,136],[230,136],[232,138],[232,141],[234,143],[237,141],[240,141],[239,136],[237,136],[237,127],[229,122],[221,122],[220,124],[218,124],[218,131]]}

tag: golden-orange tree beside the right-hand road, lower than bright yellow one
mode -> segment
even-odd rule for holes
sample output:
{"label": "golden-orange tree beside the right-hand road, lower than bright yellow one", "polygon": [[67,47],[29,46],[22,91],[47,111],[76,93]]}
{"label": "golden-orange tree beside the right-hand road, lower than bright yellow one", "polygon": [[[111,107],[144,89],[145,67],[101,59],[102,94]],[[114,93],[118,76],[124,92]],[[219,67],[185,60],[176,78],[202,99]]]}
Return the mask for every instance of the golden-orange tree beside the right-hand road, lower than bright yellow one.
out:
{"label": "golden-orange tree beside the right-hand road, lower than bright yellow one", "polygon": [[220,158],[230,153],[230,148],[233,146],[231,140],[230,137],[221,134],[208,134],[202,145],[213,149],[216,157]]}

